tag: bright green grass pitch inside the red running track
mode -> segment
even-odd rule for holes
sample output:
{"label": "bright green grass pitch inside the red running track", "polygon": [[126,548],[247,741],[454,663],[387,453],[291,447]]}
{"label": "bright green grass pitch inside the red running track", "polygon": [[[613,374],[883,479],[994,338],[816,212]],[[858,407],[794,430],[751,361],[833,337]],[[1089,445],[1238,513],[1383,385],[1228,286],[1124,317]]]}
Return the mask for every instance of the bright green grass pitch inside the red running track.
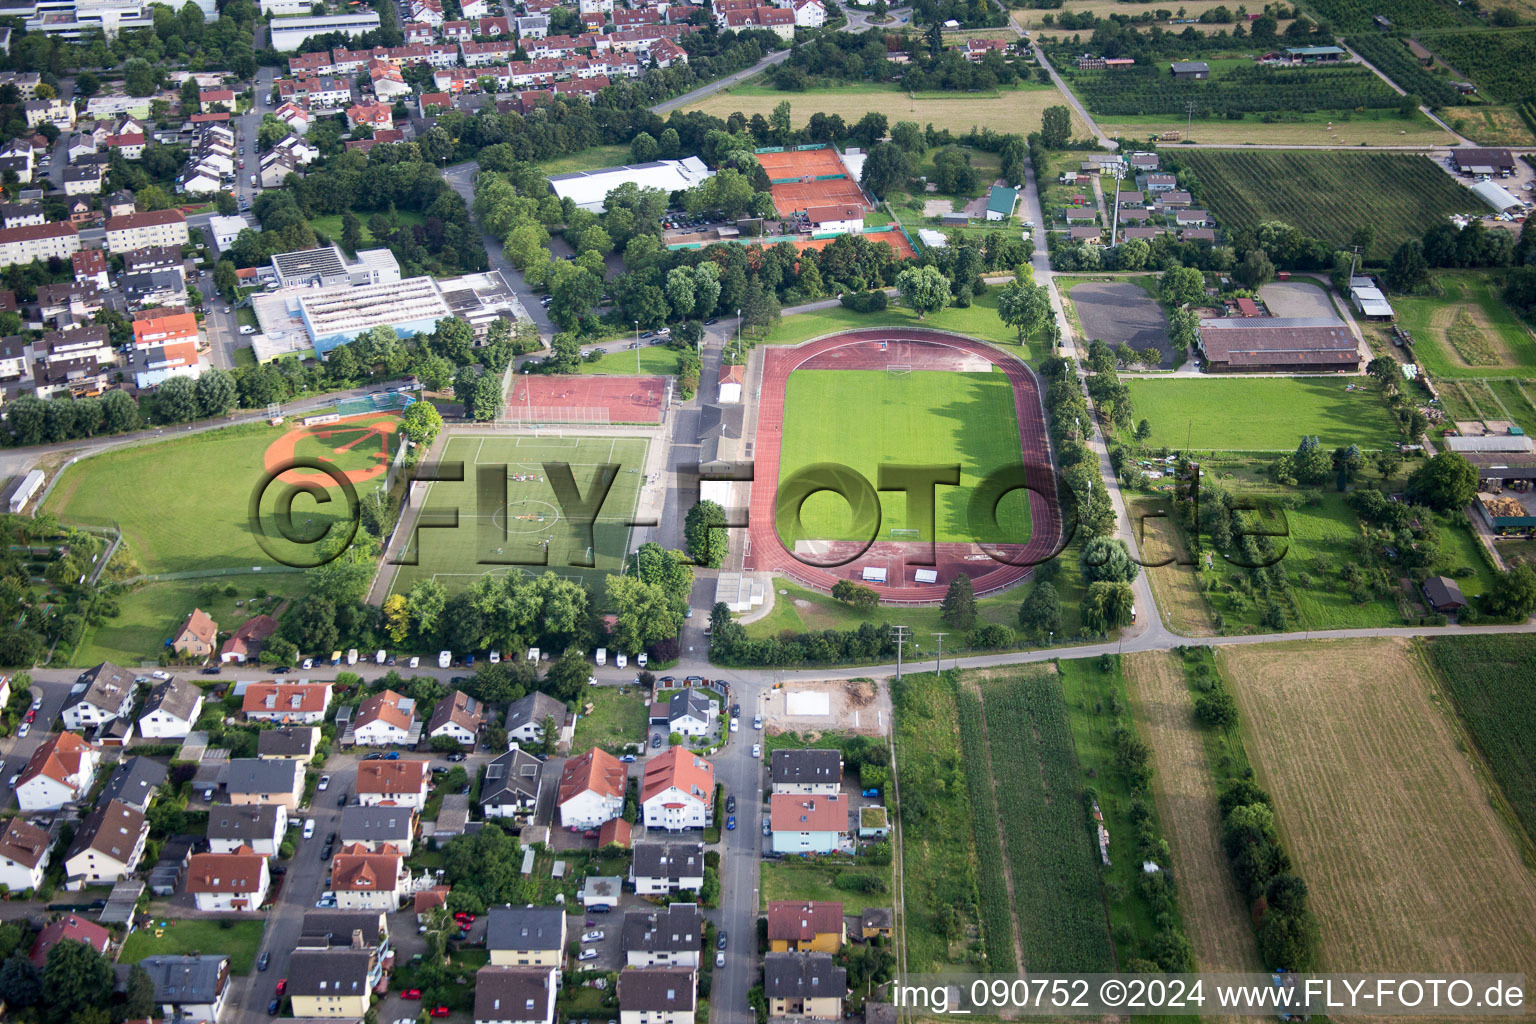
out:
{"label": "bright green grass pitch inside the red running track", "polygon": [[[1005,373],[919,370],[796,370],[785,385],[783,445],[779,479],[800,467],[834,462],[877,485],[880,464],[960,465],[958,487],[935,488],[935,537],[906,519],[902,491],[880,493],[879,539],[891,530],[922,528],[917,540],[969,542],[966,514],[975,485],[992,470],[1023,461],[1014,391]],[[1023,491],[1003,499],[998,525],[1009,542],[1029,539],[1029,505]],[[780,513],[779,536],[796,540],[854,540],[848,504],[833,493],[806,499],[803,536],[794,536]],[[900,537],[897,537],[900,539]]]}

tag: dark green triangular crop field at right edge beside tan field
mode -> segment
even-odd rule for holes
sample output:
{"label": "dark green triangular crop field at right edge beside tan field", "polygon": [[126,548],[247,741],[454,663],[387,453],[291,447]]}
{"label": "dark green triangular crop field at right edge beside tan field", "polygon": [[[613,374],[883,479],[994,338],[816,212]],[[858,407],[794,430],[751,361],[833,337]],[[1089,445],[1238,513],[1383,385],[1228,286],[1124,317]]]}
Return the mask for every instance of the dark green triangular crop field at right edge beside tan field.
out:
{"label": "dark green triangular crop field at right edge beside tan field", "polygon": [[1430,660],[1525,829],[1536,838],[1536,637],[1435,637]]}

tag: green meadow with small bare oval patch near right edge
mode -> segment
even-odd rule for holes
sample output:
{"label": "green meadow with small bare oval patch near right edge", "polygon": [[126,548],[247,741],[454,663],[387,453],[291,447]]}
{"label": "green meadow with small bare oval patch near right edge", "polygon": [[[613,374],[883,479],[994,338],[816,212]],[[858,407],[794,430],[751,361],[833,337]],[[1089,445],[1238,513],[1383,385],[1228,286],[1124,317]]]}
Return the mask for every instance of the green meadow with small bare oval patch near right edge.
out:
{"label": "green meadow with small bare oval patch near right edge", "polygon": [[[1398,324],[1413,335],[1413,358],[1432,376],[1488,378],[1536,375],[1536,336],[1499,299],[1498,284],[1487,273],[1439,273],[1444,295],[1418,298],[1393,295]],[[1473,361],[1452,344],[1456,313],[1465,310],[1476,339],[1465,347]],[[1464,321],[1465,322],[1465,321]]]}

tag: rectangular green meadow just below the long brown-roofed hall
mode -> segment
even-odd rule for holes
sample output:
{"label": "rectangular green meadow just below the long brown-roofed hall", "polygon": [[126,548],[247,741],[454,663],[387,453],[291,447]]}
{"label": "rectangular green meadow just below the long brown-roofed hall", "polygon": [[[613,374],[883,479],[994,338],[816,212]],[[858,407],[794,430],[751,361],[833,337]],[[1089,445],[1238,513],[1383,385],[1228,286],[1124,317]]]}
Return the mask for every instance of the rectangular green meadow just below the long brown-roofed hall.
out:
{"label": "rectangular green meadow just below the long brown-roofed hall", "polygon": [[1154,448],[1295,451],[1304,434],[1326,448],[1381,448],[1398,439],[1375,384],[1359,390],[1361,378],[1141,378],[1126,385],[1132,419],[1152,424]]}

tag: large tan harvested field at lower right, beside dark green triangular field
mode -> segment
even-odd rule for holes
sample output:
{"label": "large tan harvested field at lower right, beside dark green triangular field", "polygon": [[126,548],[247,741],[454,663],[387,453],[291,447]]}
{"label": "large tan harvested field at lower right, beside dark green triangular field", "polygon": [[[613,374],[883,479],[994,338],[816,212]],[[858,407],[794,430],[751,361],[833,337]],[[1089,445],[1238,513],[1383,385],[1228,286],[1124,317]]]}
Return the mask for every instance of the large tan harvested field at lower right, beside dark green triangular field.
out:
{"label": "large tan harvested field at lower right, beside dark green triangular field", "polygon": [[1536,969],[1536,881],[1405,640],[1220,648],[1319,970]]}

